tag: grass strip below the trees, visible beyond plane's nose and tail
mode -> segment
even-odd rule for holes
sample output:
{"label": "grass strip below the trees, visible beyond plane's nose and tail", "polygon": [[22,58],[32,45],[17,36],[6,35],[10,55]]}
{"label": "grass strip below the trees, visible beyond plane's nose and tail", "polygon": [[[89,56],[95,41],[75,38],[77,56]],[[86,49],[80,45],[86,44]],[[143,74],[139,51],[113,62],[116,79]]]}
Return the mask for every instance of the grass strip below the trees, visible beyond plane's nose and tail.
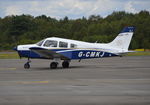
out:
{"label": "grass strip below the trees, visible beyond plane's nose and tail", "polygon": [[[127,56],[150,56],[150,51],[128,53]],[[0,59],[19,59],[17,52],[0,52]]]}

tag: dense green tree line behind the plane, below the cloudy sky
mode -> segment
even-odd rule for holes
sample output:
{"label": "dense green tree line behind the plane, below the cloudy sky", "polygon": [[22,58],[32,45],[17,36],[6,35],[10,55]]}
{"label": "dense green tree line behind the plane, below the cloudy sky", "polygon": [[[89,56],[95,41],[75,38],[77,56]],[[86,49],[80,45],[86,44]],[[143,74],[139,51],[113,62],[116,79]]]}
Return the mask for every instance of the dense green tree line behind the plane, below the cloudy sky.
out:
{"label": "dense green tree line behind the plane, below the cloudy sky", "polygon": [[0,50],[12,49],[18,44],[35,43],[47,37],[62,37],[88,42],[108,43],[125,26],[135,26],[130,48],[150,48],[150,14],[124,11],[113,12],[106,18],[91,15],[89,18],[57,20],[41,15],[6,16],[0,18]]}

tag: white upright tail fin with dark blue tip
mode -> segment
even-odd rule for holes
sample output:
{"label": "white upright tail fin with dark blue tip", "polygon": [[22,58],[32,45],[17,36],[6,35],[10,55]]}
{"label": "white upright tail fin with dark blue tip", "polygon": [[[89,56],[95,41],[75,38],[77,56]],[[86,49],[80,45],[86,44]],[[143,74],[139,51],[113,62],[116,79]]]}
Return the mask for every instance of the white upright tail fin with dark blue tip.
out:
{"label": "white upright tail fin with dark blue tip", "polygon": [[128,51],[134,29],[134,27],[125,27],[119,33],[119,35],[112,42],[109,43],[109,45],[114,48]]}

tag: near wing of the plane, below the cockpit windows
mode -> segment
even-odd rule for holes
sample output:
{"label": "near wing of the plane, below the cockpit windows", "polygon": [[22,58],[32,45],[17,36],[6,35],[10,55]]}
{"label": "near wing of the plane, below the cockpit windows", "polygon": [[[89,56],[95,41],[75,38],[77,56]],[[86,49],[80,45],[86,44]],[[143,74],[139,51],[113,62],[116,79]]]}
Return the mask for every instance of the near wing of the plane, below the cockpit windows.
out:
{"label": "near wing of the plane, below the cockpit windows", "polygon": [[53,59],[53,58],[61,58],[63,60],[68,60],[69,58],[64,56],[63,54],[57,53],[56,51],[40,48],[40,47],[31,47],[31,51],[39,54],[43,58]]}

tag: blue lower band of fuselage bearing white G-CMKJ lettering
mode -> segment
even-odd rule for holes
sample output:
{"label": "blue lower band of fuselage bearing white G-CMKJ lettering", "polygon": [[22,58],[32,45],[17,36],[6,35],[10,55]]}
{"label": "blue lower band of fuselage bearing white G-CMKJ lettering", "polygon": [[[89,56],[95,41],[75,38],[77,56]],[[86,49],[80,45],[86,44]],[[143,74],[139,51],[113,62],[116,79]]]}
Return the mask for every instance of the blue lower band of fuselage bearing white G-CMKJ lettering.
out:
{"label": "blue lower band of fuselage bearing white G-CMKJ lettering", "polygon": [[[116,54],[98,51],[96,50],[82,50],[82,49],[49,49],[50,51],[55,51],[56,53],[60,53],[61,55],[69,58],[69,59],[89,59],[89,58],[102,58],[102,57],[111,57],[117,56]],[[30,57],[30,58],[44,58],[39,54],[29,51],[22,50],[18,51],[18,53],[22,57]]]}

